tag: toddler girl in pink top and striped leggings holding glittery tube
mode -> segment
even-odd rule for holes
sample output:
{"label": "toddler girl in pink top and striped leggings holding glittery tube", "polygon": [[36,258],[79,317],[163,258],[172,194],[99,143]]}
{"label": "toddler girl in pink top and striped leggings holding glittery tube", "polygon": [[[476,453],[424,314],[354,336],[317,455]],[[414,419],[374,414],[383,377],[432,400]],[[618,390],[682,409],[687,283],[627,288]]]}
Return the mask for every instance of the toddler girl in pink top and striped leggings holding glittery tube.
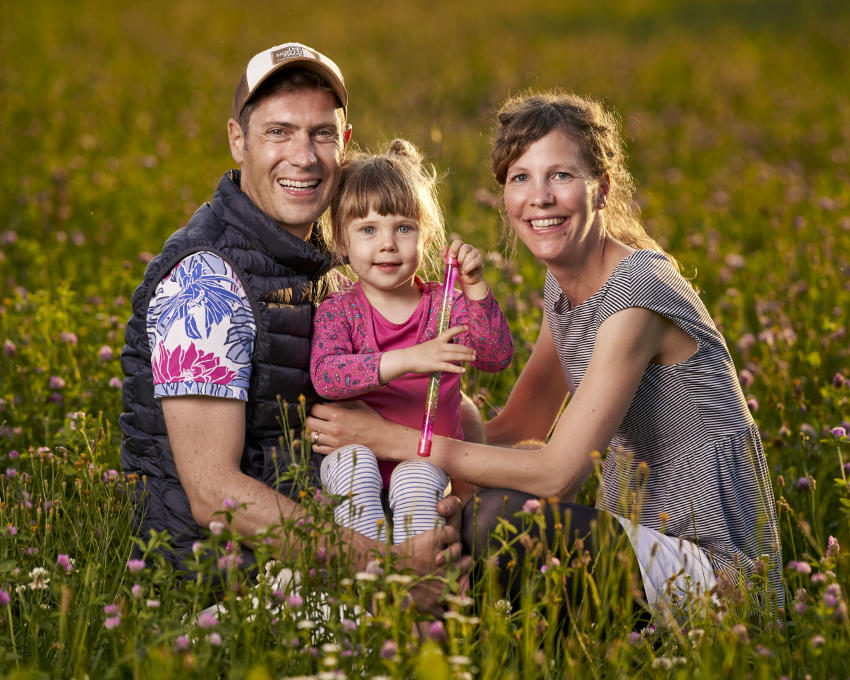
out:
{"label": "toddler girl in pink top and striped leggings holding glittery tube", "polygon": [[[442,285],[416,276],[423,257],[433,262],[445,249],[435,187],[434,173],[403,140],[385,154],[346,161],[328,240],[357,280],[319,306],[310,374],[321,397],[360,399],[389,420],[419,428],[428,376],[441,371],[434,433],[462,439],[460,364],[501,371],[513,343],[483,279],[481,253],[457,240],[449,252],[463,292],[454,293],[448,330],[436,335]],[[324,458],[321,477],[330,493],[349,497],[335,508],[337,522],[370,538],[385,538],[384,490],[395,543],[442,523],[436,502],[448,478],[424,458],[379,462],[363,446],[344,446]]]}

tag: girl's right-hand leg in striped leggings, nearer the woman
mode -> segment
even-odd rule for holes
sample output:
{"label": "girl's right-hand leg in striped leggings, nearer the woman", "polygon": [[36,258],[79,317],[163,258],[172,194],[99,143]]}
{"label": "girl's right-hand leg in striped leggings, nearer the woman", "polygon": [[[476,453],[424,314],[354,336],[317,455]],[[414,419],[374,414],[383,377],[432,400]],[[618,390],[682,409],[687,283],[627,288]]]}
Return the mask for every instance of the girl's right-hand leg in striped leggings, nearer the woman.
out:
{"label": "girl's right-hand leg in striped leggings, nearer the woman", "polygon": [[424,460],[406,460],[396,466],[390,477],[389,498],[393,543],[445,524],[437,514],[437,501],[448,483],[445,472]]}

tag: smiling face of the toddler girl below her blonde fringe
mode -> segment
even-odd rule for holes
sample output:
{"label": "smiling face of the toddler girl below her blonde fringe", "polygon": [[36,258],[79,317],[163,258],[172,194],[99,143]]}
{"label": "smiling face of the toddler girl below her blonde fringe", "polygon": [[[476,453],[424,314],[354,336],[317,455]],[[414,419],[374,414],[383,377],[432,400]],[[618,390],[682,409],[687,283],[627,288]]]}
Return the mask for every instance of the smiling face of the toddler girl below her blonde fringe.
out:
{"label": "smiling face of the toddler girl below her blonde fringe", "polygon": [[366,292],[413,285],[422,262],[418,220],[371,210],[348,224],[345,237],[342,253]]}

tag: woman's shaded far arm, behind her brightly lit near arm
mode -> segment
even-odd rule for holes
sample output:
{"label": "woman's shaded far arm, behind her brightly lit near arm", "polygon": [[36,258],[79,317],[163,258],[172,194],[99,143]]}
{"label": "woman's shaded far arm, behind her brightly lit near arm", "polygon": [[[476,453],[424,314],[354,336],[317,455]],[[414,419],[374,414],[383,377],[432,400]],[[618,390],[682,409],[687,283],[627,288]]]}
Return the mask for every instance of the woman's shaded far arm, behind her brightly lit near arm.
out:
{"label": "woman's shaded far arm, behind her brightly lit near arm", "polygon": [[505,407],[484,424],[487,441],[505,446],[524,439],[544,440],[567,397],[561,362],[544,315],[537,343],[511,390]]}

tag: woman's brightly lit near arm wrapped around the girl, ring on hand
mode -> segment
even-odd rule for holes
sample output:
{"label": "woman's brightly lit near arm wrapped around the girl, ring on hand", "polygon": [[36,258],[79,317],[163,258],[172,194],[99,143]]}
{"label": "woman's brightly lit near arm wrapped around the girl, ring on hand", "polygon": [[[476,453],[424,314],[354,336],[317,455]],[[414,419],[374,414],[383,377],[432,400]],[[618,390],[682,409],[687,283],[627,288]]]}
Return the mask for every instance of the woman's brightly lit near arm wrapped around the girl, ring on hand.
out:
{"label": "woman's brightly lit near arm wrapped around the girl, ring on hand", "polygon": [[[431,462],[451,477],[478,486],[508,487],[541,497],[574,495],[593,469],[591,453],[604,451],[622,422],[668,328],[659,316],[646,309],[625,309],[608,318],[597,333],[584,379],[543,448],[516,450],[435,437]],[[551,338],[543,341],[541,334],[538,346],[545,350],[546,342],[551,342]],[[538,367],[532,369],[536,371]],[[541,383],[539,377],[528,380],[526,388]],[[512,417],[532,419],[538,408],[551,414],[552,405],[538,404],[533,391],[526,394],[524,405],[519,402],[521,396],[511,394]],[[405,460],[416,455],[418,432],[388,423],[364,409],[362,405],[348,409],[314,407],[307,424],[321,433],[322,446],[317,450],[329,453],[336,446],[356,440],[380,458]]]}

